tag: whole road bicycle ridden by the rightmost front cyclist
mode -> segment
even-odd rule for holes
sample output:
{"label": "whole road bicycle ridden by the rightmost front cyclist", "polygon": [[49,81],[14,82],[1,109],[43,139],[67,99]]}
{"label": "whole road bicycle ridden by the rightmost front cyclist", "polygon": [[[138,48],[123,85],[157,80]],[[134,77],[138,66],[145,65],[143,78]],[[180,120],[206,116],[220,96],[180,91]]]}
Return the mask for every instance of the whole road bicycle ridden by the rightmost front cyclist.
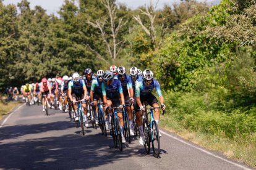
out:
{"label": "whole road bicycle ridden by the rightmost front cyclist", "polygon": [[[161,107],[150,107],[150,111],[147,110],[147,103],[144,103],[145,111],[142,112],[143,119],[143,132],[145,138],[145,153],[150,153],[150,143],[152,144],[153,156],[155,158],[159,158],[160,155],[160,136],[158,124],[156,123],[153,115],[153,110]],[[163,111],[164,114],[164,111]],[[148,115],[150,115],[150,119],[148,119]]]}

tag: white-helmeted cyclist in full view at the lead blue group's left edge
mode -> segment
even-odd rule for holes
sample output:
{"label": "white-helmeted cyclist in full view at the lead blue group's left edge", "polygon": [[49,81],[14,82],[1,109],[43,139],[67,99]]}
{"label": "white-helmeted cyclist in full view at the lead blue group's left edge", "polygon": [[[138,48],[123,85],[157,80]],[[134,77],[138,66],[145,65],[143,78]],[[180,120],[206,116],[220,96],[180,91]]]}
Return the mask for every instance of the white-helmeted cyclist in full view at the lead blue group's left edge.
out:
{"label": "white-helmeted cyclist in full view at the lead blue group's left edge", "polygon": [[[75,106],[75,101],[77,100],[78,97],[80,97],[80,100],[82,99],[88,100],[88,97],[87,97],[87,88],[85,86],[85,81],[83,81],[83,79],[80,79],[80,75],[77,72],[75,72],[72,75],[72,80],[69,81],[68,95],[69,95],[69,99],[72,100],[71,104],[75,112],[75,121],[78,121],[79,118],[77,115],[77,108]],[[85,115],[85,126],[88,127],[87,116],[85,114],[87,113],[85,101],[82,102],[82,107],[83,107],[83,114]]]}

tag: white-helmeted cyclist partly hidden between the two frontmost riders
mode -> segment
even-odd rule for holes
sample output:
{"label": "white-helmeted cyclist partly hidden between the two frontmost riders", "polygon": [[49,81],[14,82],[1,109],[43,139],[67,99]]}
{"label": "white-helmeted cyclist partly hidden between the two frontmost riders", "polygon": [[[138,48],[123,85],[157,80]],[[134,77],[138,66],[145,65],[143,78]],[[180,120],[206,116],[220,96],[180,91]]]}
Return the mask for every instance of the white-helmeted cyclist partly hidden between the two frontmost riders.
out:
{"label": "white-helmeted cyclist partly hidden between the two frontmost riders", "polygon": [[130,100],[134,100],[134,90],[132,89],[132,79],[129,75],[126,75],[126,68],[120,66],[117,68],[118,76],[117,78],[121,82],[122,91],[124,93],[124,100],[126,103],[126,110],[129,116],[129,126],[130,126],[130,135],[134,136],[134,131],[132,129],[132,110],[130,108]]}

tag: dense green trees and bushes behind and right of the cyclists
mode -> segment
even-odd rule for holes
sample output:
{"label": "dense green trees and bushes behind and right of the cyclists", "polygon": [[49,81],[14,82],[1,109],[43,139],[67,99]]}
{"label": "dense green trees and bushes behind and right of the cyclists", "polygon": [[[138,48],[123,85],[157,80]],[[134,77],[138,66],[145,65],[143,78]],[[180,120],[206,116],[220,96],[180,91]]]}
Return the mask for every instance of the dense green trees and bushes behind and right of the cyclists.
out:
{"label": "dense green trees and bushes behind and right of the cyclists", "polygon": [[172,121],[243,139],[248,158],[241,150],[233,156],[256,166],[255,0],[213,7],[186,0],[163,9],[151,1],[135,10],[114,0],[75,4],[66,0],[57,17],[26,0],[0,1],[1,90],[111,64],[150,68]]}

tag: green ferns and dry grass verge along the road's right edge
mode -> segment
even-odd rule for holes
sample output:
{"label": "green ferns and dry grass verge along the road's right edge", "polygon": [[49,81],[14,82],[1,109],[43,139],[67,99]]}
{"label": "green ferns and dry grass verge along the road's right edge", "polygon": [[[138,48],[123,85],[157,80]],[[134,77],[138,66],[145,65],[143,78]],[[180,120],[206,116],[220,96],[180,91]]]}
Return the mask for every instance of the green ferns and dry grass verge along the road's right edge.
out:
{"label": "green ferns and dry grass verge along the road's right edge", "polygon": [[255,113],[213,110],[221,107],[220,103],[218,106],[215,101],[205,104],[205,96],[198,94],[169,92],[164,97],[168,107],[166,115],[160,118],[160,127],[256,168],[256,132],[252,125]]}

